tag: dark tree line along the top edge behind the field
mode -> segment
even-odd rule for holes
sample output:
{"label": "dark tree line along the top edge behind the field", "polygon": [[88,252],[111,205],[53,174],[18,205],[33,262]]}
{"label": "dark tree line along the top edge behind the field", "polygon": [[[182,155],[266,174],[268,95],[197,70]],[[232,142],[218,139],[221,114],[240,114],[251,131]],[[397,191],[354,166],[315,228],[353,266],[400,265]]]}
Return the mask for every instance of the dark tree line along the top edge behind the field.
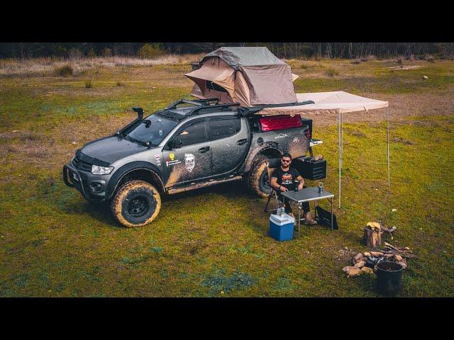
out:
{"label": "dark tree line along the top edge behind the field", "polygon": [[[162,53],[207,53],[221,46],[266,46],[280,58],[454,57],[453,42],[8,42],[0,43],[0,58],[147,57]],[[146,48],[145,48],[146,47]]]}

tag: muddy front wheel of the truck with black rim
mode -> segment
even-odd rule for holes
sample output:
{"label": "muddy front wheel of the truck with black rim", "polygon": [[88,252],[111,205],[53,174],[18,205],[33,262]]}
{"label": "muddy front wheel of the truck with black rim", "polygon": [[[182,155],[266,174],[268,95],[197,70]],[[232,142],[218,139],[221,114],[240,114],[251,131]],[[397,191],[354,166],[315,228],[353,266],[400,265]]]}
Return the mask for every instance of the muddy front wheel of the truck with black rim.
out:
{"label": "muddy front wheel of the truck with black rim", "polygon": [[155,220],[161,209],[157,189],[145,181],[123,184],[111,201],[111,212],[125,227],[141,227]]}

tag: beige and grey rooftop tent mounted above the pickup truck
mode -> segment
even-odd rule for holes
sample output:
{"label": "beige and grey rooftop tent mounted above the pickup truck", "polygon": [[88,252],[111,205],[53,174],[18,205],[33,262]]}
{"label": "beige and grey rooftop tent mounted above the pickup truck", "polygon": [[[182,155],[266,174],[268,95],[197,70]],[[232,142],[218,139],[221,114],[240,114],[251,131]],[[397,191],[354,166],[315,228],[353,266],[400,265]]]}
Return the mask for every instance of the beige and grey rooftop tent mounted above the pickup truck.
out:
{"label": "beige and grey rooftop tent mounted above the pickup truck", "polygon": [[218,48],[185,76],[196,84],[192,95],[198,98],[243,106],[297,101],[292,83],[297,76],[267,47]]}

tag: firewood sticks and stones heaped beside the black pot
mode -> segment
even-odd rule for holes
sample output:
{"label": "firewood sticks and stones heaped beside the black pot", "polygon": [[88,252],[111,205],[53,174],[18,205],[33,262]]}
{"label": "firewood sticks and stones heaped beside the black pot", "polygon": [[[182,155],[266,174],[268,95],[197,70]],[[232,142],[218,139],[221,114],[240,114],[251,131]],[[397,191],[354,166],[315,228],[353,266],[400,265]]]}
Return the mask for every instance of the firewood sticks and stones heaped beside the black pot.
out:
{"label": "firewood sticks and stones heaped beside the black pot", "polygon": [[384,249],[373,249],[358,253],[353,257],[353,266],[346,266],[342,270],[350,276],[359,276],[362,273],[375,273],[375,265],[382,261],[399,263],[402,268],[406,269],[407,259],[417,258],[415,254],[406,247],[397,247],[384,242]]}

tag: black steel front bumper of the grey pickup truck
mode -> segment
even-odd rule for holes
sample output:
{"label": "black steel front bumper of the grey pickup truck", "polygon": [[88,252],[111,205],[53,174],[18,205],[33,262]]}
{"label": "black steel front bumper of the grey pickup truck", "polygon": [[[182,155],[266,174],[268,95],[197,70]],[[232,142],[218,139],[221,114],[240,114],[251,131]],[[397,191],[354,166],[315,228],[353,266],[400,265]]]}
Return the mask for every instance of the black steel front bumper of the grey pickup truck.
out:
{"label": "black steel front bumper of the grey pickup truck", "polygon": [[[86,200],[94,202],[106,199],[106,181],[99,179],[99,176],[77,170],[72,164],[63,166],[63,181],[70,188],[76,188]],[[100,183],[101,190],[94,191],[92,183]]]}

